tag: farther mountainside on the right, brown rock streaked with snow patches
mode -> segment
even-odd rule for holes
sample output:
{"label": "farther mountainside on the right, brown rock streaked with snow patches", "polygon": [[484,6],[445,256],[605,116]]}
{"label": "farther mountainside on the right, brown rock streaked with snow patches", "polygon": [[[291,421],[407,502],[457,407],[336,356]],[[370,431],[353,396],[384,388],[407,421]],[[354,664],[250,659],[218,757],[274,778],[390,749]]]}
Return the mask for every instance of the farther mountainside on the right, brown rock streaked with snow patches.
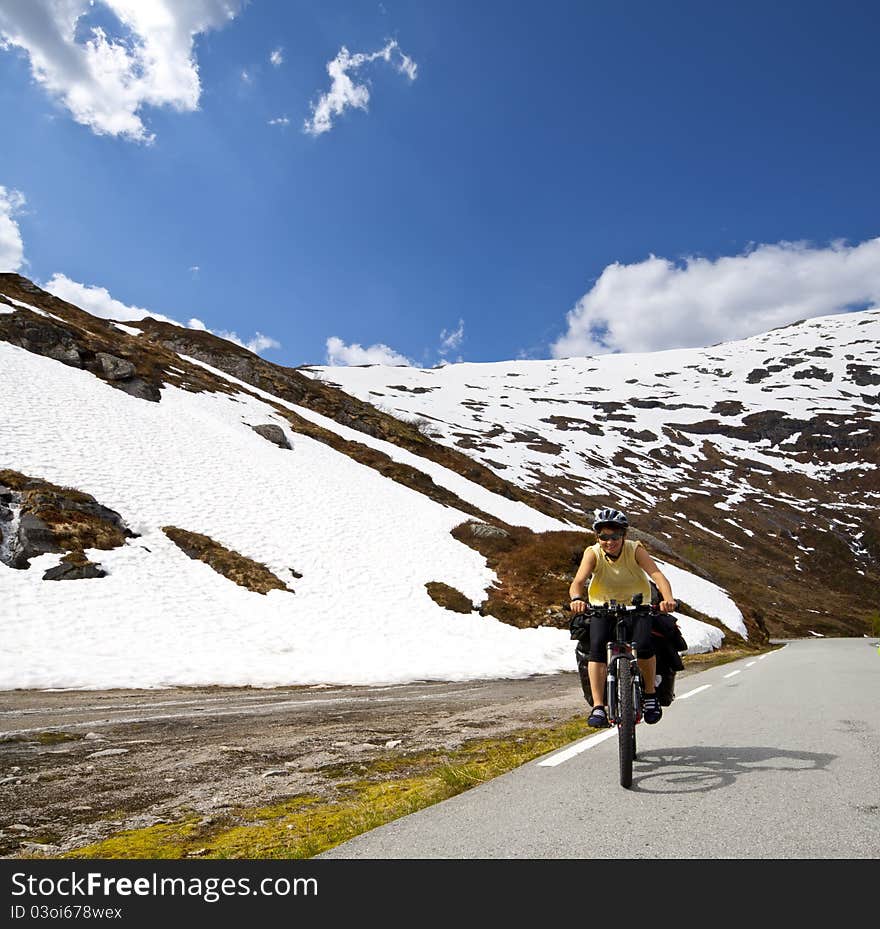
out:
{"label": "farther mountainside on the right, brown rock streaked with snow patches", "polygon": [[589,522],[625,509],[772,635],[867,631],[880,556],[880,309],[706,349],[314,368]]}

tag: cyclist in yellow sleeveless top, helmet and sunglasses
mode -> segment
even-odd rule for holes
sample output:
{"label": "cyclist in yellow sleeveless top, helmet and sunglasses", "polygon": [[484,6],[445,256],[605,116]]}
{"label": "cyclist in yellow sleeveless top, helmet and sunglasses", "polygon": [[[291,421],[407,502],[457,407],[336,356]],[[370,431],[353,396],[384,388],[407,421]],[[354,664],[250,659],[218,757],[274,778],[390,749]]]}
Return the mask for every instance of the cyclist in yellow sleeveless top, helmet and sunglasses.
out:
{"label": "cyclist in yellow sleeveless top, helmet and sunglasses", "polygon": [[[620,510],[603,509],[596,511],[593,531],[597,542],[584,551],[580,567],[569,587],[571,610],[583,613],[587,609],[587,599],[592,606],[601,606],[611,600],[629,604],[636,594],[641,594],[643,601],[651,600],[650,578],[660,591],[662,597],[659,607],[664,613],[675,609],[672,588],[654,559],[647,553],[641,542],[630,542],[626,538],[629,520]],[[590,579],[589,590],[586,588]],[[586,597],[585,597],[586,594]],[[587,673],[592,696],[593,712],[587,720],[595,729],[609,725],[608,712],[605,707],[605,678],[608,673],[605,647],[612,634],[611,620],[606,617],[593,617],[590,621],[590,650]],[[640,616],[635,621],[633,630],[636,642],[636,654],[639,670],[645,687],[645,722],[660,721],[663,710],[657,699],[654,678],[657,672],[657,659],[651,641],[651,618]],[[586,696],[581,658],[578,657],[578,670]]]}

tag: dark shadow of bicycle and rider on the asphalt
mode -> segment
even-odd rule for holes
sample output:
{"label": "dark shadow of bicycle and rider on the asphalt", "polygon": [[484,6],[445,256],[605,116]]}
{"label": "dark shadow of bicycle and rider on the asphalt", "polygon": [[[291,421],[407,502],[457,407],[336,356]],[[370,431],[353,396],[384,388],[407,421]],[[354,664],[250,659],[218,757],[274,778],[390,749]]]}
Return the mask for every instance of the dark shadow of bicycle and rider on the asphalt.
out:
{"label": "dark shadow of bicycle and rider on the asphalt", "polygon": [[764,771],[822,771],[836,757],[762,746],[655,749],[639,753],[633,767],[632,789],[645,793],[705,793]]}

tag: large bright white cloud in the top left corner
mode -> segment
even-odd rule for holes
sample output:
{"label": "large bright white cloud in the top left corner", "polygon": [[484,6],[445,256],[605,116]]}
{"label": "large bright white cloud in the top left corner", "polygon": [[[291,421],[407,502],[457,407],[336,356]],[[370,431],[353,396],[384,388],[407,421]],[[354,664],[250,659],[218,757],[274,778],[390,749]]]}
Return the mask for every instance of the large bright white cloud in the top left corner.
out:
{"label": "large bright white cloud in the top left corner", "polygon": [[[97,135],[149,143],[142,109],[198,109],[194,39],[233,19],[243,2],[4,0],[0,47],[22,49],[34,80],[78,123]],[[93,12],[107,11],[117,20],[112,35],[90,22]]]}

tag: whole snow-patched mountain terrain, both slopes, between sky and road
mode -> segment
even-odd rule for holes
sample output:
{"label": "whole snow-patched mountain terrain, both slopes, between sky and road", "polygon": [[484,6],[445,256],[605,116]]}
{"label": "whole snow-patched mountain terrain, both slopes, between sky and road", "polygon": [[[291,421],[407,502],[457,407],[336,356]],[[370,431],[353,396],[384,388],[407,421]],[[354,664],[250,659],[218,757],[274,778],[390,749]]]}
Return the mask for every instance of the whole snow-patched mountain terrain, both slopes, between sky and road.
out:
{"label": "whole snow-patched mountain terrain, both slopes, between sky and road", "polygon": [[860,631],[877,327],[303,371],[0,275],[0,688],[571,670],[560,605],[608,503],[693,650]]}

